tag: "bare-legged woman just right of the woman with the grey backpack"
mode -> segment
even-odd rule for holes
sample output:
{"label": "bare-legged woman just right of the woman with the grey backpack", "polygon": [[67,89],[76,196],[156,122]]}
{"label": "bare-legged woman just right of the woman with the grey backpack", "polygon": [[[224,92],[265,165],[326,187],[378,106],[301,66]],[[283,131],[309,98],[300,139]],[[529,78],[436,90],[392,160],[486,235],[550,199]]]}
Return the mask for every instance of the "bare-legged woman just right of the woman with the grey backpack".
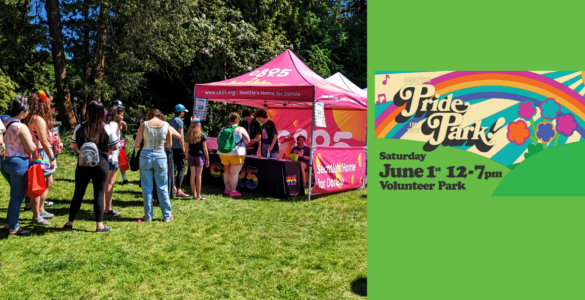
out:
{"label": "bare-legged woman just right of the woman with the grey backpack", "polygon": [[[116,138],[121,140],[122,131],[120,129],[122,119],[124,118],[124,110],[120,107],[110,108],[106,115],[106,126],[114,132]],[[118,145],[120,146],[120,145]],[[114,185],[116,184],[116,177],[118,177],[118,157],[119,150],[110,151],[108,154],[108,179],[106,181],[106,192],[104,193],[104,214],[118,216],[119,211],[112,209],[112,197],[114,195]]]}

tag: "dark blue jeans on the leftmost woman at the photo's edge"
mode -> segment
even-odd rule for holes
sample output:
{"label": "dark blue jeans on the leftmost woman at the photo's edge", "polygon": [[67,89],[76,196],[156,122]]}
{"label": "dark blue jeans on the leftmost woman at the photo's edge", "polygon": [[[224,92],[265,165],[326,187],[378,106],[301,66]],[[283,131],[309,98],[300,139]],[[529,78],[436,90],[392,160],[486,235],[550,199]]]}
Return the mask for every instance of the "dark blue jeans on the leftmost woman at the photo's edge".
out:
{"label": "dark blue jeans on the leftmost woman at the photo's edge", "polygon": [[8,202],[8,213],[6,222],[10,229],[19,227],[20,206],[26,195],[28,185],[28,157],[6,156],[0,165],[2,176],[10,184],[10,202]]}

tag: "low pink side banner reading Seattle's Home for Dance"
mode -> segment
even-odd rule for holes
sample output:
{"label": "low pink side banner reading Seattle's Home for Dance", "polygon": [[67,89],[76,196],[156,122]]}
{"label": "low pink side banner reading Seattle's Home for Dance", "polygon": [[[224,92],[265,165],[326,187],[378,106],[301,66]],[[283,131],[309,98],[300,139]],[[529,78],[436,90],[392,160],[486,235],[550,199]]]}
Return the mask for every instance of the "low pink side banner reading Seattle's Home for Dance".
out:
{"label": "low pink side banner reading Seattle's Home for Dance", "polygon": [[364,185],[366,152],[363,148],[328,147],[313,151],[316,185],[311,194],[325,194]]}

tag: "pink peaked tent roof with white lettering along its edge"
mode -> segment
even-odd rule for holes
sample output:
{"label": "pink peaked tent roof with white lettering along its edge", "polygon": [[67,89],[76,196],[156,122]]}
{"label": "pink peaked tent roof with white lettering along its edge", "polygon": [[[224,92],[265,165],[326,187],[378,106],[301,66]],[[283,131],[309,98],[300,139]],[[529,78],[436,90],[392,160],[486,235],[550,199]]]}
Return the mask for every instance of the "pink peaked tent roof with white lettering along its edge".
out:
{"label": "pink peaked tent roof with white lettering along its edge", "polygon": [[253,107],[312,107],[367,109],[365,96],[330,83],[286,50],[263,66],[223,81],[196,84],[195,97]]}

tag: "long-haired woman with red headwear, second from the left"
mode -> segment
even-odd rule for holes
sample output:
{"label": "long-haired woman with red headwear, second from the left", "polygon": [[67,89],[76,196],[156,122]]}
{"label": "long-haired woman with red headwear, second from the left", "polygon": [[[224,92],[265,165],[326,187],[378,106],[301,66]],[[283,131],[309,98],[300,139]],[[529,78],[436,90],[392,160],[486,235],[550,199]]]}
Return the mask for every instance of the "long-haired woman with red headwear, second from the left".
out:
{"label": "long-haired woman with red headwear, second from the left", "polygon": [[30,199],[33,211],[33,224],[50,225],[45,219],[51,219],[55,215],[45,211],[45,200],[49,189],[53,185],[53,172],[57,170],[57,160],[50,140],[53,139],[53,111],[51,110],[51,93],[43,90],[36,90],[28,104],[30,106],[27,117],[23,120],[32,133],[41,160],[48,162],[48,167],[42,165],[47,190],[35,199]]}

